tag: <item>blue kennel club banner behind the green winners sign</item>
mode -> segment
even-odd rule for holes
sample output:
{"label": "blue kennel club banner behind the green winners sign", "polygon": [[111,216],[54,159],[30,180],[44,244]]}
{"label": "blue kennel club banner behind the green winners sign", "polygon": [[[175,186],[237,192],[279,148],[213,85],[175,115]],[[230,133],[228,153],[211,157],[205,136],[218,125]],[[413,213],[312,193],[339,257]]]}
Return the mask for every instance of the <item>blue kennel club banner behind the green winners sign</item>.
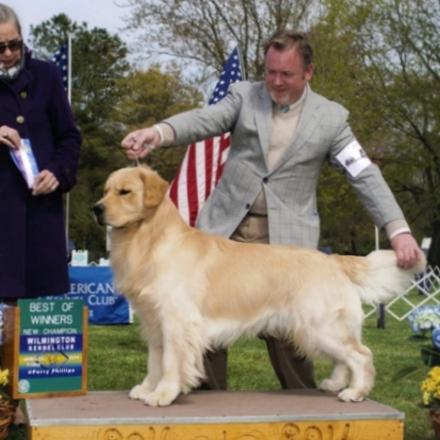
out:
{"label": "blue kennel club banner behind the green winners sign", "polygon": [[70,292],[46,299],[82,299],[89,309],[89,324],[129,324],[127,300],[113,285],[110,266],[69,266]]}

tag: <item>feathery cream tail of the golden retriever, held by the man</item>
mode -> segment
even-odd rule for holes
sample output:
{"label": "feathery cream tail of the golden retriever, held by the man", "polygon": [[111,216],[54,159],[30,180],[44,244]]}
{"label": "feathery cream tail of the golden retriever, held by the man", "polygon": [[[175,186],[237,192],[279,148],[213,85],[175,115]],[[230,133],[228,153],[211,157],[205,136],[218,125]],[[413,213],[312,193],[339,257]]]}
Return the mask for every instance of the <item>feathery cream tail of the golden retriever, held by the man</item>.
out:
{"label": "feathery cream tail of the golden retriever, held by the man", "polygon": [[411,269],[401,269],[397,265],[394,251],[374,251],[362,257],[340,257],[345,273],[356,284],[362,302],[380,304],[402,294],[411,285],[415,275],[426,267],[426,258]]}

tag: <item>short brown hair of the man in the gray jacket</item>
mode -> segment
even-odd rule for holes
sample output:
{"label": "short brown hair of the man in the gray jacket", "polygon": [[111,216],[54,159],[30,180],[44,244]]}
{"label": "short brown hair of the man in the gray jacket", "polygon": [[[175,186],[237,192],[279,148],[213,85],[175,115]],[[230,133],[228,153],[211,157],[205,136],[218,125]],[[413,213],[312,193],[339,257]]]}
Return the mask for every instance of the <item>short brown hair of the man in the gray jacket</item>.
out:
{"label": "short brown hair of the man in the gray jacket", "polygon": [[267,51],[271,47],[279,51],[296,47],[301,55],[305,68],[313,63],[313,48],[310,44],[309,37],[305,32],[280,29],[264,44],[264,56],[267,55]]}

